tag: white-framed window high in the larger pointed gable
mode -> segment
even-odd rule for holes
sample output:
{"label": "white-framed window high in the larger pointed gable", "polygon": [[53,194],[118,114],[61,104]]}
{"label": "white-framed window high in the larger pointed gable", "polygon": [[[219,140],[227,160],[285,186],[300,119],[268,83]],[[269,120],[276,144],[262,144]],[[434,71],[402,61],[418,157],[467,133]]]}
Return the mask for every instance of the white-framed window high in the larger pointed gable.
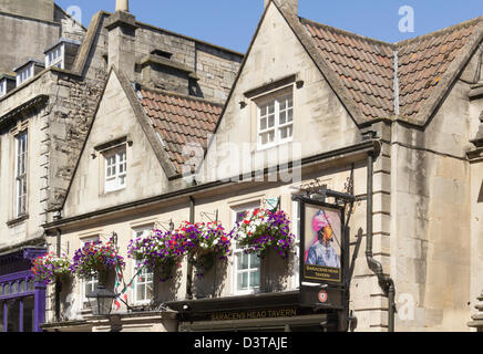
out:
{"label": "white-framed window high in the larger pointed gable", "polygon": [[292,94],[269,95],[257,102],[258,148],[290,142],[294,134]]}

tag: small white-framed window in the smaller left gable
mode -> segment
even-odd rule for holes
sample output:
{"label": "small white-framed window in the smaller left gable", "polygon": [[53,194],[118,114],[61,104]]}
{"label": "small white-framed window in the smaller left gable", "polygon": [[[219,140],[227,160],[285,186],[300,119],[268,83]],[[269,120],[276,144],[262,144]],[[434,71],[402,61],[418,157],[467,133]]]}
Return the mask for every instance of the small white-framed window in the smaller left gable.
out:
{"label": "small white-framed window in the smaller left gable", "polygon": [[[106,150],[104,154],[104,192],[126,188],[127,149],[125,145]],[[112,158],[114,158],[113,163]],[[122,171],[121,171],[122,170]]]}

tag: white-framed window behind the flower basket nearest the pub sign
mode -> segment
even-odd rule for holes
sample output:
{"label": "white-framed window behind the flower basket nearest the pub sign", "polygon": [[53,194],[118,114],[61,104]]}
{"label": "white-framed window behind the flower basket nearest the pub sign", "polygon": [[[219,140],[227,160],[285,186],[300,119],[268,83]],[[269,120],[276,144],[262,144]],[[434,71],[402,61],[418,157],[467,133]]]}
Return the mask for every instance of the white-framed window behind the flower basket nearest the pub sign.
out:
{"label": "white-framed window behind the flower basket nearest the pub sign", "polygon": [[[234,219],[239,222],[248,211],[256,208],[259,208],[259,204],[237,208],[234,210]],[[258,291],[260,288],[259,253],[246,253],[245,249],[235,241],[234,258],[234,293],[240,295]]]}

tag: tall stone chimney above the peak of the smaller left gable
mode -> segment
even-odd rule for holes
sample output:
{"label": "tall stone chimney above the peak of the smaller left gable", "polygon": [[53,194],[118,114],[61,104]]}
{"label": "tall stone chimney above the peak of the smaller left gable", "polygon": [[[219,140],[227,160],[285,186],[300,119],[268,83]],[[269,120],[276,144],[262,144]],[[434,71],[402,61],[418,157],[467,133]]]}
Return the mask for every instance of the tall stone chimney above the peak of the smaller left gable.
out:
{"label": "tall stone chimney above the peak of the smaller left gable", "polygon": [[130,81],[134,81],[136,64],[136,18],[129,12],[129,0],[116,0],[115,12],[109,19],[109,55],[107,63],[124,72]]}

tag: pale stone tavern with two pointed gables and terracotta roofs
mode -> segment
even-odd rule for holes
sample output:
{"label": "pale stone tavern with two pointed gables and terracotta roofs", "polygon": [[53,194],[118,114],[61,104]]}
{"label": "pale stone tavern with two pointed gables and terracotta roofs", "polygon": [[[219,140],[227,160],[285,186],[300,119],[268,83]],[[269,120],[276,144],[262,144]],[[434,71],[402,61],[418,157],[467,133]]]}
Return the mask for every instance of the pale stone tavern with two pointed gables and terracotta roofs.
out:
{"label": "pale stone tavern with two pointed gables and terracotta roofs", "polygon": [[[153,87],[143,62],[140,76],[130,53],[114,54],[61,216],[44,228],[70,256],[115,233],[134,289],[129,308],[90,316],[85,295],[96,279],[74,280],[59,296],[62,321],[50,313],[44,330],[345,331],[357,319],[358,331],[469,331],[471,316],[470,325],[481,323],[483,19],[384,43],[299,18],[297,4],[265,1],[224,105]],[[130,21],[125,12],[114,18]],[[111,156],[124,166],[114,186],[105,175]],[[314,186],[356,197],[350,296],[338,306],[300,302],[297,253],[259,260],[233,243],[233,257],[204,278],[193,279],[185,259],[165,283],[148,271],[137,277],[126,257],[143,230],[184,220],[233,226],[274,200],[297,233],[292,196]]]}

